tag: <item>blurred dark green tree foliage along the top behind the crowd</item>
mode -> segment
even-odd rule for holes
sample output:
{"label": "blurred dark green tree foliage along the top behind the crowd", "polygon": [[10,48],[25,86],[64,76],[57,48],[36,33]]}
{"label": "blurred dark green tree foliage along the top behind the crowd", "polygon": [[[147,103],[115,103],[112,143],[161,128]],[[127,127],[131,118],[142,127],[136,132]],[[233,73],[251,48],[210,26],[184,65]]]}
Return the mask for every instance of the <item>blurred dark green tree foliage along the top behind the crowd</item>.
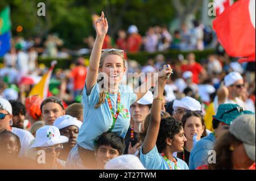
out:
{"label": "blurred dark green tree foliage along the top behind the crowd", "polygon": [[[46,16],[38,16],[39,2],[46,5]],[[170,24],[175,9],[167,0],[1,0],[0,10],[11,7],[13,35],[24,37],[46,37],[57,33],[66,46],[79,47],[82,40],[95,35],[92,14],[104,10],[109,21],[109,35],[116,36],[118,30],[135,24],[144,35],[148,27]],[[17,26],[22,32],[16,32]]]}

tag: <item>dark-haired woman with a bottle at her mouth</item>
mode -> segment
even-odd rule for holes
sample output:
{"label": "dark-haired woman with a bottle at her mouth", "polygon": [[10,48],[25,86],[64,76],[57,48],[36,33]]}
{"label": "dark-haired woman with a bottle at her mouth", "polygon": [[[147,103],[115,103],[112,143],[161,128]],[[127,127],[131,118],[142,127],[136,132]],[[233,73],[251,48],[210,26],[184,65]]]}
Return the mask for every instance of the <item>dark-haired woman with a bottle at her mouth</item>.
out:
{"label": "dark-haired woman with a bottle at her mouth", "polygon": [[185,142],[184,150],[177,153],[177,157],[183,159],[183,161],[189,164],[189,156],[193,145],[195,145],[201,138],[207,136],[207,132],[205,129],[203,115],[199,112],[191,111],[185,113],[181,119],[181,123],[187,141]]}

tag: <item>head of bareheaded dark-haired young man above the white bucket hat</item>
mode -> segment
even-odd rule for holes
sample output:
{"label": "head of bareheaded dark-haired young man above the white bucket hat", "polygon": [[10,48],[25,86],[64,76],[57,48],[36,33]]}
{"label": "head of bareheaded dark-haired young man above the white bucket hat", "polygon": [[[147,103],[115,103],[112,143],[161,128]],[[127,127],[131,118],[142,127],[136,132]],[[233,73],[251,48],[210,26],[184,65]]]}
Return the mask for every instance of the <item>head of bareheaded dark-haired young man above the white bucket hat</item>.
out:
{"label": "head of bareheaded dark-haired young man above the white bucket hat", "polygon": [[40,110],[46,125],[53,125],[57,117],[65,115],[63,103],[56,96],[50,96],[44,99],[41,103]]}

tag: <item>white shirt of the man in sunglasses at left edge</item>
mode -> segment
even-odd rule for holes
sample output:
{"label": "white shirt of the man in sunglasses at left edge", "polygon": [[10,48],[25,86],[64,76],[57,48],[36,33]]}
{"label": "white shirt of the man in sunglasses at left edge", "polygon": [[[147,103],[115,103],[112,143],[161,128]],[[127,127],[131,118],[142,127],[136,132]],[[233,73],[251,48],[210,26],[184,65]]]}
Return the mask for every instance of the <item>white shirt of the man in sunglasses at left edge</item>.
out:
{"label": "white shirt of the man in sunglasses at left edge", "polygon": [[30,142],[34,140],[34,136],[30,132],[24,129],[15,128],[15,127],[11,128],[11,132],[16,134],[19,137],[20,145],[21,145],[21,148],[19,151],[19,157],[24,157],[26,151],[28,150]]}

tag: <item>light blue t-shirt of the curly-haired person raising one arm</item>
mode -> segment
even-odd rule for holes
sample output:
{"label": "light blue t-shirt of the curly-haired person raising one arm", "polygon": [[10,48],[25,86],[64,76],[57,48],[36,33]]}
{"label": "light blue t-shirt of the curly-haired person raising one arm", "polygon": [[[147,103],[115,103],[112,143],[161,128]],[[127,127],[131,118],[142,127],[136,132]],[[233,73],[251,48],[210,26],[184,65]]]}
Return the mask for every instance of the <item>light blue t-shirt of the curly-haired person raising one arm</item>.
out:
{"label": "light blue t-shirt of the curly-haired person raising one arm", "polygon": [[[174,157],[177,161],[177,170],[189,170],[188,165],[182,159]],[[141,159],[142,164],[148,170],[170,170],[170,167],[166,160],[162,157],[160,153],[158,153],[158,149],[155,147],[150,150],[147,154],[139,155],[139,159]],[[171,162],[172,170],[175,170],[174,162]]]}

